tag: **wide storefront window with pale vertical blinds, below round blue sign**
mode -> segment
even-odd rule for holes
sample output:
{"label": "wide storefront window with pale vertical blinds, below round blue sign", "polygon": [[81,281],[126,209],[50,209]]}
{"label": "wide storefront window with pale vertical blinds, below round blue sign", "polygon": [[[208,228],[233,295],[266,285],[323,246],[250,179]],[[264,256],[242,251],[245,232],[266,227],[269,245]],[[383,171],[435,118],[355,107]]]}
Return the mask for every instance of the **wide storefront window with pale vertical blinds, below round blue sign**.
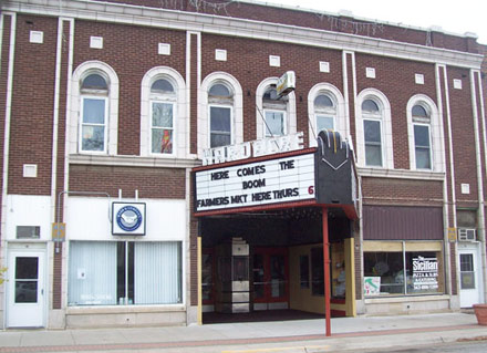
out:
{"label": "wide storefront window with pale vertical blinds, below round blue sign", "polygon": [[179,241],[71,241],[69,305],[183,301]]}

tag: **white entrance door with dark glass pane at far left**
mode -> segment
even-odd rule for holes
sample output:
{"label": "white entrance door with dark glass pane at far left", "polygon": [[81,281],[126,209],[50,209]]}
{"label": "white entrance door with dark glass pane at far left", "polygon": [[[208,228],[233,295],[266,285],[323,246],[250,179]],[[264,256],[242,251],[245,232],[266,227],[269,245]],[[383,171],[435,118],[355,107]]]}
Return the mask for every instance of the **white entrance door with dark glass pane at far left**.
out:
{"label": "white entrance door with dark glass pane at far left", "polygon": [[44,326],[44,252],[11,250],[8,273],[7,325]]}

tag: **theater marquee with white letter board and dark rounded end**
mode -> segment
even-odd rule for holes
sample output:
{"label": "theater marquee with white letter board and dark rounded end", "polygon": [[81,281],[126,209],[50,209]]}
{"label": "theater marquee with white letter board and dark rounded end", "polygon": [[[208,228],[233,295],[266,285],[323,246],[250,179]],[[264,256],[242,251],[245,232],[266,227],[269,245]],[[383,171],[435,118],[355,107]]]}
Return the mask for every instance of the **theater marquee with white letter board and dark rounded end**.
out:
{"label": "theater marquee with white letter board and dark rounded end", "polygon": [[320,132],[317,148],[204,165],[193,172],[195,216],[328,206],[342,208],[350,219],[358,217],[353,154],[334,132]]}

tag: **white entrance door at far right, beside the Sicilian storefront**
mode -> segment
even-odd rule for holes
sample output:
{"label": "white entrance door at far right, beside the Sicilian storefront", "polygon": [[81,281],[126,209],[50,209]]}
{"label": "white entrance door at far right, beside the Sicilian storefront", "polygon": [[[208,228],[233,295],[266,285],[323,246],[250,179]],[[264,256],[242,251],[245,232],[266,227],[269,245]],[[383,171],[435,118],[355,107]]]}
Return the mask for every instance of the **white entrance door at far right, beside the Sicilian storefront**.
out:
{"label": "white entrance door at far right, beside the Sicilian storefront", "polygon": [[460,307],[472,308],[480,302],[480,258],[478,247],[459,247],[458,263],[460,268]]}

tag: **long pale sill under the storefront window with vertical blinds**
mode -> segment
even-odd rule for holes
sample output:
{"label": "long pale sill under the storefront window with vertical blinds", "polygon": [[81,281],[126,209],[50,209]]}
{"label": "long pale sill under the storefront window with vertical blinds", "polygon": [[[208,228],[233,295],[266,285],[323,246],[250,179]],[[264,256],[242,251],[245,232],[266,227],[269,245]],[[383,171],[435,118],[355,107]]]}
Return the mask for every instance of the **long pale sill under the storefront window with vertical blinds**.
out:
{"label": "long pale sill under the storefront window with vertical blinds", "polygon": [[86,314],[120,314],[120,313],[155,313],[155,312],[182,312],[185,304],[154,304],[154,305],[100,305],[100,307],[68,307],[69,315]]}

